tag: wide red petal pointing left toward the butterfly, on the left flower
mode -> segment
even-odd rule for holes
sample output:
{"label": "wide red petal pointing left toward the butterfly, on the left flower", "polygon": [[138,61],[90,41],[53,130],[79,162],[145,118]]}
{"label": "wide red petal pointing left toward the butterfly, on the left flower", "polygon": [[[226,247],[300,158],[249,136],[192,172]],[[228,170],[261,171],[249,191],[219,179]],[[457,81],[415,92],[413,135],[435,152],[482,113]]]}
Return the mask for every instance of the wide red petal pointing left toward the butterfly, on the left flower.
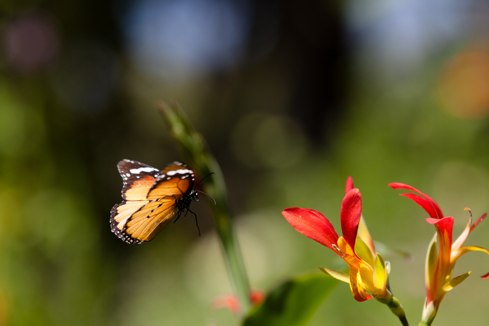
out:
{"label": "wide red petal pointing left toward the butterfly, on the left flower", "polygon": [[333,224],[324,215],[312,209],[299,207],[287,208],[282,215],[295,230],[340,255],[332,246],[333,243],[337,243],[338,234],[334,231]]}

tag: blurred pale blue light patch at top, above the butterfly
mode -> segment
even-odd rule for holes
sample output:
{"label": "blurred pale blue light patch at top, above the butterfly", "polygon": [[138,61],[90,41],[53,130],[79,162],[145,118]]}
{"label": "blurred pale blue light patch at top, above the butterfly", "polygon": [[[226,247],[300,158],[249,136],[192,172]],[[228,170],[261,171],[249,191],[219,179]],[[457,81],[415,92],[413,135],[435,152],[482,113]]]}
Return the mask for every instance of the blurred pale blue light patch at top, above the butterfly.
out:
{"label": "blurred pale blue light patch at top, above the butterfly", "polygon": [[185,77],[236,64],[248,32],[243,1],[142,0],[124,21],[135,65],[155,77]]}

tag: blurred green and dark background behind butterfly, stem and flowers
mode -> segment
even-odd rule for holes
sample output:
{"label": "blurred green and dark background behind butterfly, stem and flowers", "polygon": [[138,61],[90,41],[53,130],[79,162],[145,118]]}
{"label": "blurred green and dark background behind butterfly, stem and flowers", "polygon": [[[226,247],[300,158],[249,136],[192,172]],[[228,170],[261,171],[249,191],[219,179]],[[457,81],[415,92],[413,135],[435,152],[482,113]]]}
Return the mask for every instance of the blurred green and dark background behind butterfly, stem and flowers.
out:
{"label": "blurred green and dark background behind butterfly, stem and flowers", "polygon": [[[417,325],[427,214],[387,186],[438,201],[463,230],[489,210],[489,5],[479,0],[1,0],[0,325],[237,325],[212,220],[128,245],[109,227],[116,164],[180,159],[156,112],[175,99],[226,177],[252,287],[342,268],[294,231],[289,206],[340,231],[352,175],[375,240],[413,254],[391,286]],[[467,244],[489,246],[487,222]],[[488,257],[436,325],[488,325]],[[311,325],[398,325],[339,284]]]}

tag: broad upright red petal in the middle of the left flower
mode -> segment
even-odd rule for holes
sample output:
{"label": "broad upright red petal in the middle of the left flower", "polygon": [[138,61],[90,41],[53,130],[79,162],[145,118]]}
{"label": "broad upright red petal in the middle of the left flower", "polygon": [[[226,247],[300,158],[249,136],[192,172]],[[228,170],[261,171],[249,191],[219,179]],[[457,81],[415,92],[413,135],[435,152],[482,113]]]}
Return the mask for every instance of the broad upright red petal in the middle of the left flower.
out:
{"label": "broad upright red petal in the middle of the left flower", "polygon": [[357,188],[353,188],[343,198],[340,211],[343,238],[345,238],[352,248],[355,248],[356,233],[361,214],[362,195]]}

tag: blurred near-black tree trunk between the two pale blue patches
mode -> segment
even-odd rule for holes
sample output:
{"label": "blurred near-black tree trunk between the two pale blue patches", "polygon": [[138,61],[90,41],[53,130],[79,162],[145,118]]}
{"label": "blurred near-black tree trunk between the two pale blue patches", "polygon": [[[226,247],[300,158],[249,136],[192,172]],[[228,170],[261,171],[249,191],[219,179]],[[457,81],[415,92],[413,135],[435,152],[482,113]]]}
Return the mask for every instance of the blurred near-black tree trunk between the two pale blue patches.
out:
{"label": "blurred near-black tree trunk between the two pale blue patches", "polygon": [[290,114],[315,145],[327,141],[344,107],[347,53],[341,13],[336,1],[284,3],[281,46],[293,53],[296,68]]}

